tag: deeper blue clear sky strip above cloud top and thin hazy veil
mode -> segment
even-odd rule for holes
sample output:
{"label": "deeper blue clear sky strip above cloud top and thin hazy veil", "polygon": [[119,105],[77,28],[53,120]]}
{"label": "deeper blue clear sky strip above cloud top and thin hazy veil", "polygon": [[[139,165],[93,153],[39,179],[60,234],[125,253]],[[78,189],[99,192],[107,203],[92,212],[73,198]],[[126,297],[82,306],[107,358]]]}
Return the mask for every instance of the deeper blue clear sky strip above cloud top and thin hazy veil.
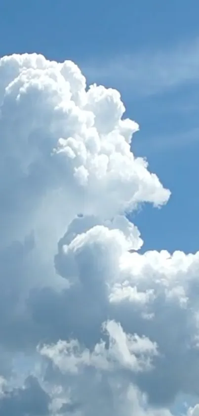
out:
{"label": "deeper blue clear sky strip above cloud top and thin hazy veil", "polygon": [[164,46],[198,34],[198,0],[6,0],[1,51],[84,58]]}

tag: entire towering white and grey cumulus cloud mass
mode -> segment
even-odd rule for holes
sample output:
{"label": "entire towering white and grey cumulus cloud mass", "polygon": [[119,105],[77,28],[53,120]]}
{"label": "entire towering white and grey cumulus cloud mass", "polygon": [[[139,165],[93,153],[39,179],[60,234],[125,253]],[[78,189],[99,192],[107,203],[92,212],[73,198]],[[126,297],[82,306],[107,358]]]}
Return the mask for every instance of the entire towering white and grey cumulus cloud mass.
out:
{"label": "entire towering white and grey cumulus cloud mass", "polygon": [[169,416],[199,396],[199,253],[139,253],[126,214],[170,191],[124,112],[69,60],[0,59],[0,416]]}

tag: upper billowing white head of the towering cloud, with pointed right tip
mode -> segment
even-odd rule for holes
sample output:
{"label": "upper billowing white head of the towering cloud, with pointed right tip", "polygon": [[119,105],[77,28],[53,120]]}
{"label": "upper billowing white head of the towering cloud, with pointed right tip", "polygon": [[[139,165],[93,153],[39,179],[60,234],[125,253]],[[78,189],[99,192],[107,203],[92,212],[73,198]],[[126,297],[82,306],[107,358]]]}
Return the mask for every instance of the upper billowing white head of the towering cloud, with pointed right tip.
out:
{"label": "upper billowing white head of the towering cloud, with pointed right tip", "polygon": [[[22,229],[26,233],[31,209],[40,216],[41,198],[44,213],[46,205],[56,210],[70,199],[69,220],[79,212],[110,217],[145,201],[161,205],[168,200],[169,191],[149,173],[144,159],[130,152],[138,125],[120,119],[124,106],[117,91],[94,85],[86,93],[85,78],[73,62],[50,62],[36,54],[4,57],[0,71],[5,178],[0,193],[3,222],[13,207],[7,227],[11,238]],[[65,210],[62,215],[66,227]],[[56,226],[62,228],[60,222]]]}

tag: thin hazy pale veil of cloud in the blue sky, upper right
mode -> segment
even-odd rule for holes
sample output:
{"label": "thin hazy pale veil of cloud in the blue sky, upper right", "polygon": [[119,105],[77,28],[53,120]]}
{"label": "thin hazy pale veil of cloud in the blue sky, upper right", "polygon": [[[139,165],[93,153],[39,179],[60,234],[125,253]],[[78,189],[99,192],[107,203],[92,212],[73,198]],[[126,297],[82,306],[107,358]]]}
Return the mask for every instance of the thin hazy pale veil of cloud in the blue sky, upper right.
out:
{"label": "thin hazy pale veil of cloud in the blue sky, upper right", "polygon": [[199,78],[199,40],[165,50],[151,50],[113,57],[83,65],[93,81],[130,89],[134,96],[154,95],[197,82]]}

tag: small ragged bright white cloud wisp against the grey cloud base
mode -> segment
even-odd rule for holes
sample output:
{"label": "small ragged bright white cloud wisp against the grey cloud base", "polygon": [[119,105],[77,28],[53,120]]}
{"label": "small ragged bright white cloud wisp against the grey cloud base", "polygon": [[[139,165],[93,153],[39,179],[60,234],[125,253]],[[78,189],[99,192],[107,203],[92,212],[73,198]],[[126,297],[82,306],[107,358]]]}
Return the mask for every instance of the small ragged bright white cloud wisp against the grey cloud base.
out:
{"label": "small ragged bright white cloud wisp against the grey cloud base", "polygon": [[109,347],[100,341],[94,350],[82,349],[78,340],[58,341],[55,345],[44,345],[40,349],[42,356],[50,358],[62,372],[75,372],[84,366],[93,366],[101,370],[117,370],[117,367],[132,371],[146,371],[151,367],[151,358],[158,354],[157,345],[148,338],[125,334],[115,321],[103,323],[103,329],[109,337]]}

